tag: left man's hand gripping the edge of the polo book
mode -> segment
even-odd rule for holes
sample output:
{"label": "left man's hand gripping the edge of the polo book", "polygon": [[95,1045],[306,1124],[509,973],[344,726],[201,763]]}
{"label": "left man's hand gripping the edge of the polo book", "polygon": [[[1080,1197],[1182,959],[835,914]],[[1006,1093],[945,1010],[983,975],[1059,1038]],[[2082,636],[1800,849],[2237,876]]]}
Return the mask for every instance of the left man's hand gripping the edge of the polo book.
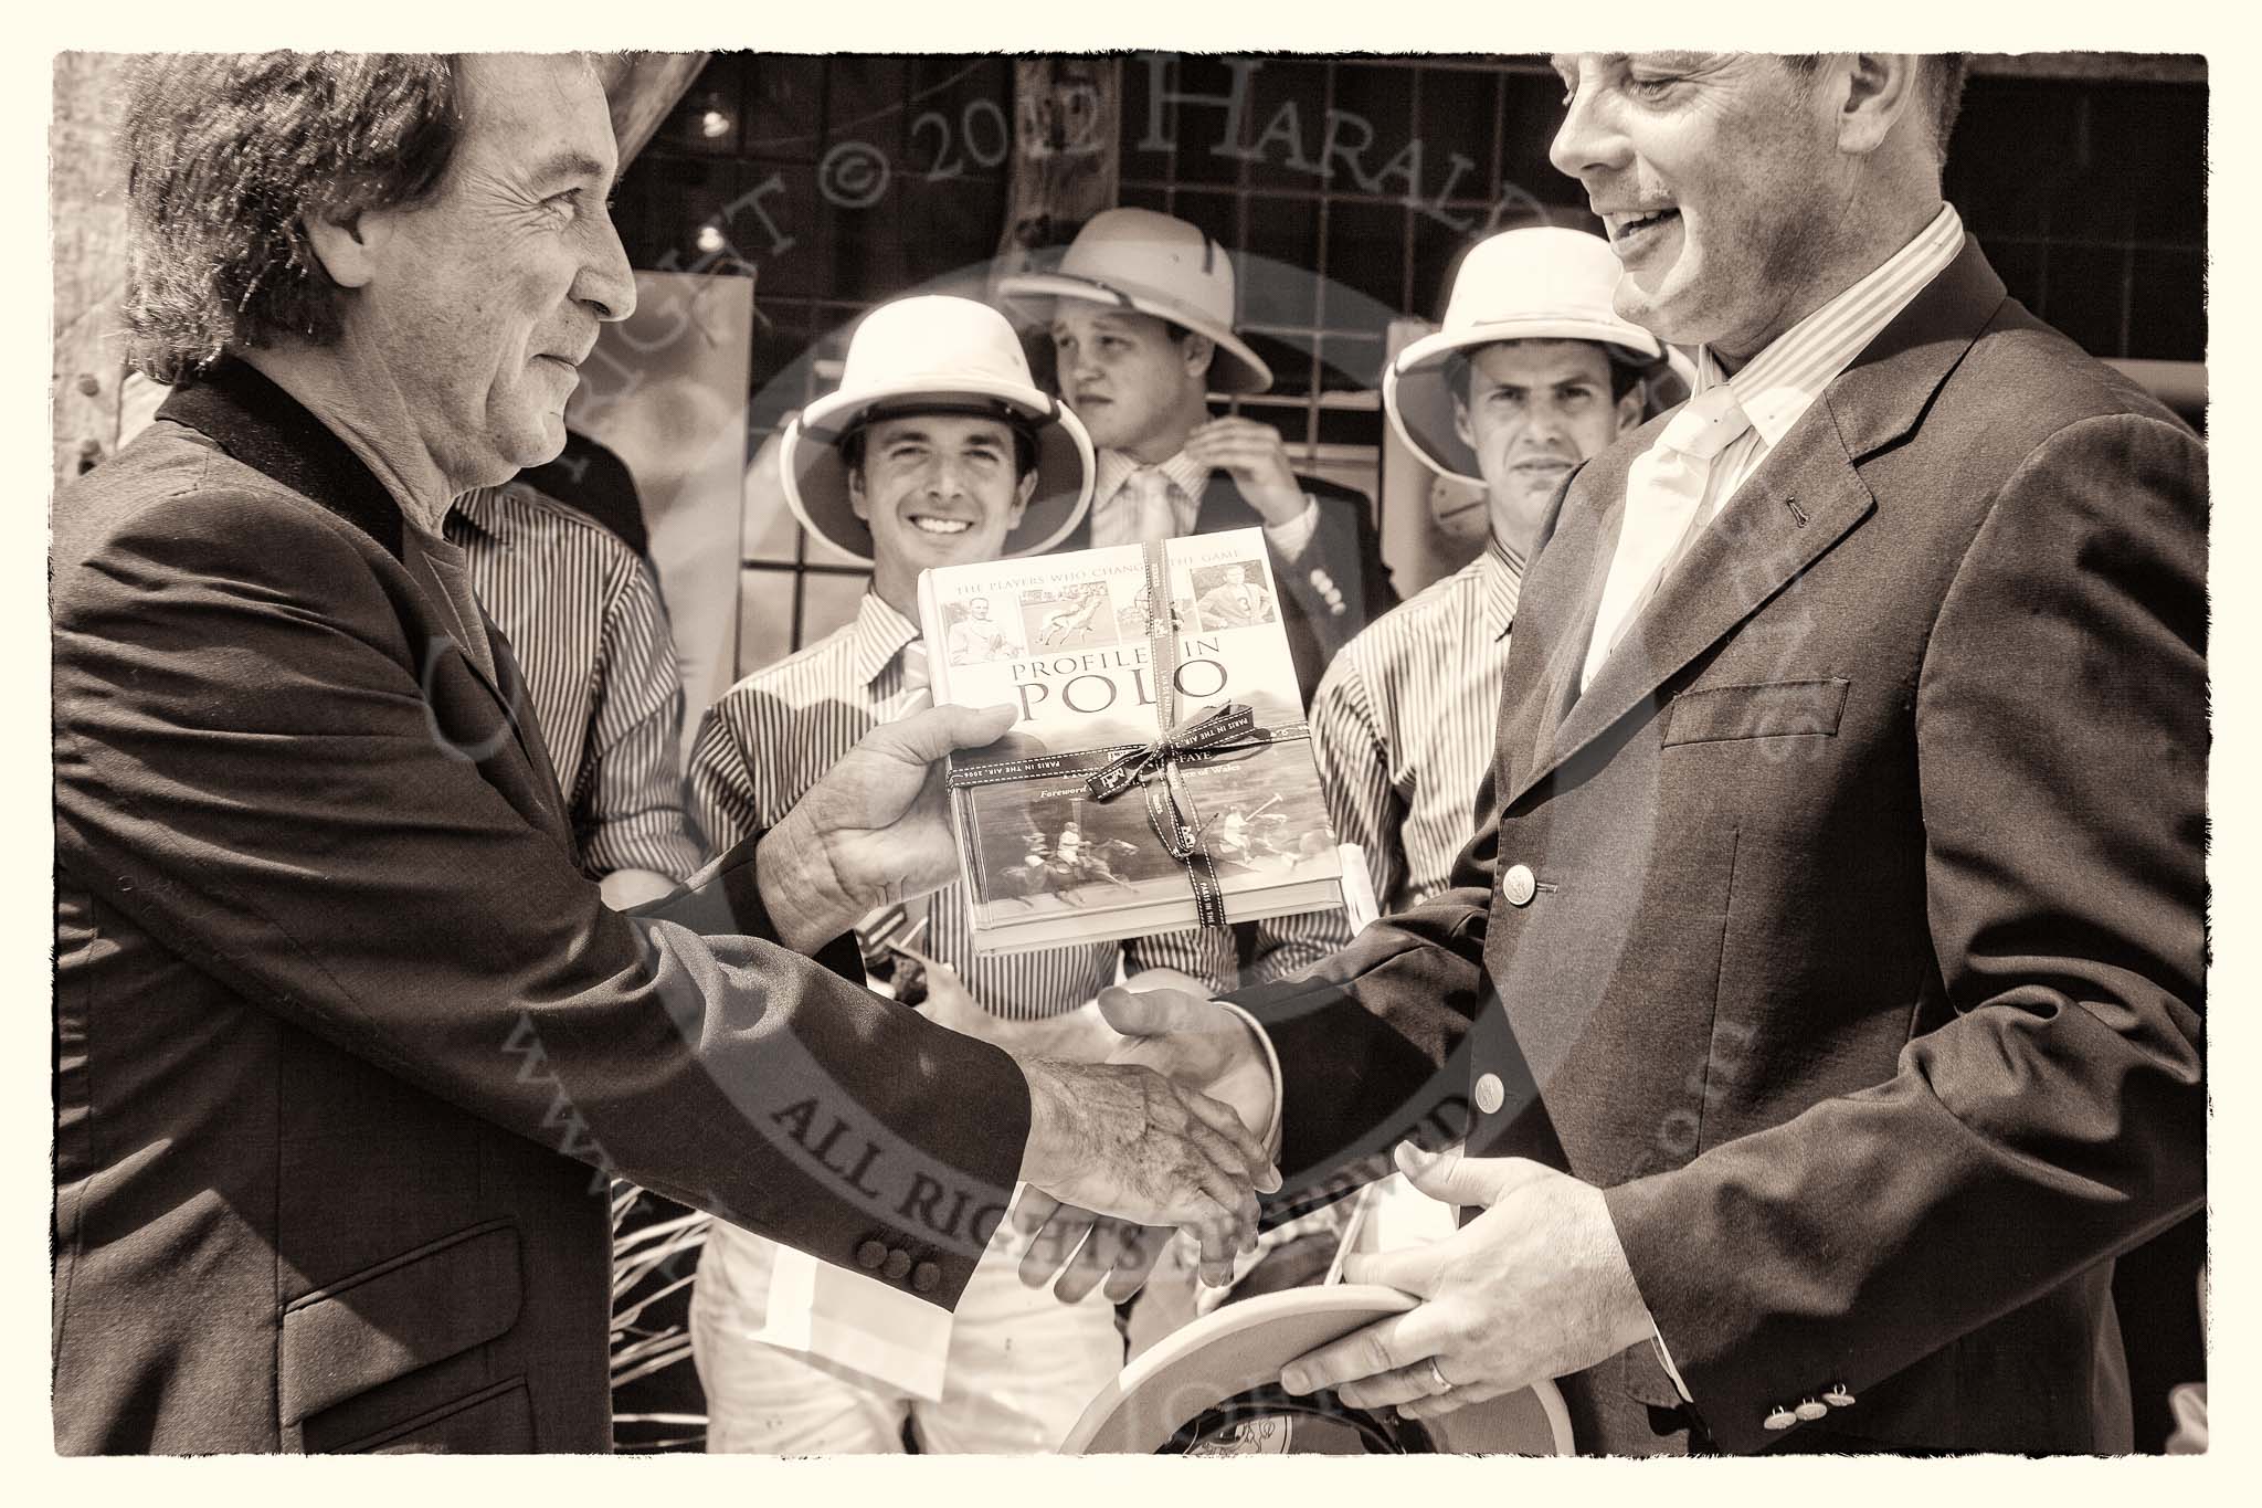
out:
{"label": "left man's hand gripping the edge of the polo book", "polygon": [[1009,705],[927,708],[866,733],[762,839],[758,884],[778,941],[814,952],[873,907],[950,884],[943,755],[1011,723]]}

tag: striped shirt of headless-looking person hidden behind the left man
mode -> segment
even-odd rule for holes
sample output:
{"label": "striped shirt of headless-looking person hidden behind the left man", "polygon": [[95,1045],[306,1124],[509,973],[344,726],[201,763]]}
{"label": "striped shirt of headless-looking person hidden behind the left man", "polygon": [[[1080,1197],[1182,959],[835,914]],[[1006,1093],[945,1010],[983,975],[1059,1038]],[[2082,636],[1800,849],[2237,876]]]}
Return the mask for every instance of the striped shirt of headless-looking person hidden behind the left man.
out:
{"label": "striped shirt of headless-looking person hidden behind the left man", "polygon": [[443,531],[525,676],[581,870],[690,877],[699,843],[683,825],[676,764],[683,676],[645,561],[525,482],[464,493]]}

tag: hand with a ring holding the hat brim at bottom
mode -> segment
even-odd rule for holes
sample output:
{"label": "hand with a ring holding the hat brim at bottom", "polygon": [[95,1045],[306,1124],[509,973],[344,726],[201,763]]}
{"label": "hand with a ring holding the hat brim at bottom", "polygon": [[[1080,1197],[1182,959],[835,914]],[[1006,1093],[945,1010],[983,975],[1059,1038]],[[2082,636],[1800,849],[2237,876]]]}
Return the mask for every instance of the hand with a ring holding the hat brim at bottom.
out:
{"label": "hand with a ring holding the hat brim at bottom", "polygon": [[1411,1144],[1398,1167],[1423,1194],[1484,1214],[1443,1241],[1348,1257],[1344,1282],[1423,1302],[1292,1361],[1289,1393],[1335,1388],[1418,1420],[1581,1372],[1654,1334],[1595,1185],[1525,1158]]}

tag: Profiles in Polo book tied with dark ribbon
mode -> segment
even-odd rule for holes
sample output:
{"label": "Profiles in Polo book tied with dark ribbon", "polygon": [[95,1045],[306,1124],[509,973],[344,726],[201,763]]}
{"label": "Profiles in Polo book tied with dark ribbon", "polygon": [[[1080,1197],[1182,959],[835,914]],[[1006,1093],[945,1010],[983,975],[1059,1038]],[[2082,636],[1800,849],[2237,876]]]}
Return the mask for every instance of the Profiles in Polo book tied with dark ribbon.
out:
{"label": "Profiles in Polo book tied with dark ribbon", "polygon": [[[1240,714],[1249,730],[1181,753],[1167,812],[1190,818],[1226,918],[1341,904],[1262,531],[1163,545],[1160,624],[1147,577],[1147,552],[1117,545],[950,565],[918,581],[921,626],[943,649],[936,701],[1018,710],[1002,739],[950,757],[979,952],[1197,925],[1188,861],[1149,816],[1147,787],[1165,785],[1160,755],[1106,798],[1093,773],[1212,714]],[[1169,696],[1158,694],[1165,685]]]}

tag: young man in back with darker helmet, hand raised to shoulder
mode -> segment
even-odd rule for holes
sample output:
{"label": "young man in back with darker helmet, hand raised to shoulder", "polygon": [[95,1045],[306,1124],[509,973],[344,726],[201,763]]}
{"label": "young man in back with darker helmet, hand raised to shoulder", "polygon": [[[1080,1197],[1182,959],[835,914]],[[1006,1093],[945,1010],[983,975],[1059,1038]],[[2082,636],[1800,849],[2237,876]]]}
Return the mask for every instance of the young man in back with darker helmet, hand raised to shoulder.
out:
{"label": "young man in back with darker helmet, hand raised to shoulder", "polygon": [[1090,525],[1063,545],[1262,525],[1310,699],[1335,651],[1398,592],[1366,497],[1296,475],[1271,425],[1210,418],[1208,393],[1262,393],[1274,380],[1233,332],[1226,249],[1169,215],[1104,210],[1056,271],[1004,278],[998,292],[1050,301],[1061,396],[1099,448]]}

